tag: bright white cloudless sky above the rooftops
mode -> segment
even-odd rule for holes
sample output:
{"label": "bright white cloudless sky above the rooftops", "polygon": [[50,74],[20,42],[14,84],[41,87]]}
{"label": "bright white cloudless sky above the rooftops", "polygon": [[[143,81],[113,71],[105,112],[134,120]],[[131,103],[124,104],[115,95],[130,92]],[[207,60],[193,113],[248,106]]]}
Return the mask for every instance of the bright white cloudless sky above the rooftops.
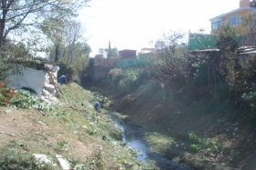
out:
{"label": "bright white cloudless sky above the rooftops", "polygon": [[161,35],[210,31],[209,19],[239,8],[240,0],[91,0],[80,11],[91,57],[100,48],[152,47]]}

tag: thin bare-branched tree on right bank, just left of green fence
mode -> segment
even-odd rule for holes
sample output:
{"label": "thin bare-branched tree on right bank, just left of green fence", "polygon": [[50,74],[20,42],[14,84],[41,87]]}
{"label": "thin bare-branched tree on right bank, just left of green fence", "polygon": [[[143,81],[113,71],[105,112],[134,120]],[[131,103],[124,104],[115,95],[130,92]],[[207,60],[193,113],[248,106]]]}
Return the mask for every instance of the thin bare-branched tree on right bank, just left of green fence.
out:
{"label": "thin bare-branched tree on right bank, just left of green fence", "polygon": [[156,42],[156,59],[151,66],[155,78],[164,84],[179,87],[187,85],[187,46],[183,45],[185,36],[174,33],[164,35],[162,39]]}

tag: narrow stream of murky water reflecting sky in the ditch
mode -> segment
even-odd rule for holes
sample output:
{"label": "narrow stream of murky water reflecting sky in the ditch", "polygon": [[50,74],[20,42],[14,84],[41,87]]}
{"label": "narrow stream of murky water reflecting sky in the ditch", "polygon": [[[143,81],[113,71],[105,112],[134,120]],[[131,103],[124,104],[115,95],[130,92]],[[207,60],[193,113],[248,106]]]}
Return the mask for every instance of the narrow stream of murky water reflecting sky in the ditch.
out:
{"label": "narrow stream of murky water reflecting sky in the ditch", "polygon": [[138,151],[140,155],[135,158],[138,161],[143,161],[146,163],[146,159],[154,160],[158,168],[161,170],[191,170],[187,167],[176,164],[176,162],[165,159],[162,155],[156,155],[150,153],[148,150],[148,145],[145,143],[140,135],[140,129],[137,127],[132,127],[124,124],[123,121],[117,116],[109,113],[114,125],[122,130],[123,132],[123,143],[133,148],[133,150]]}

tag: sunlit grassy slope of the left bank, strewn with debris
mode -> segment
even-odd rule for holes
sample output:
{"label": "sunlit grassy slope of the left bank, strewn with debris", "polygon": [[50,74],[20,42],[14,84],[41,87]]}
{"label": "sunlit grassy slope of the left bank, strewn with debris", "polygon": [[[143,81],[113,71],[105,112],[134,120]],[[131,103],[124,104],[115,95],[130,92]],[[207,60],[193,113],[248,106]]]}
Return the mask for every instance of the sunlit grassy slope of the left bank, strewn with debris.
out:
{"label": "sunlit grassy slope of the left bank, strewn with debris", "polygon": [[[24,105],[31,100],[30,95],[23,93],[21,105],[15,105],[19,92],[11,89],[16,95],[0,107],[0,124],[9,120],[14,124],[1,129],[1,140],[5,141],[0,145],[2,169],[60,169],[55,155],[62,155],[72,169],[157,169],[151,161],[135,161],[133,156],[138,153],[121,145],[122,132],[104,115],[107,110],[101,114],[94,111],[95,101],[105,97],[76,84],[60,88],[64,95],[58,95],[59,105],[39,111],[31,105],[31,109],[21,109],[27,108]],[[4,85],[0,89],[1,96],[9,92]],[[105,108],[109,104],[110,101]],[[32,154],[47,155],[57,166],[39,163]]]}

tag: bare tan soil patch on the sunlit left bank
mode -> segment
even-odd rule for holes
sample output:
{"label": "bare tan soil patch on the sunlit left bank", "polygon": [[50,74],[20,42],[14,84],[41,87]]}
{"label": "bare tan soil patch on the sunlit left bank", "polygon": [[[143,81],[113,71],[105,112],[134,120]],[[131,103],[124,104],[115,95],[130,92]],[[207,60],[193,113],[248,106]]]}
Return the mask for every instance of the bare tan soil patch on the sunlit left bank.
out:
{"label": "bare tan soil patch on the sunlit left bank", "polygon": [[[63,126],[59,127],[48,123],[52,122],[51,118],[43,116],[37,111],[8,107],[0,107],[0,110],[0,146],[2,149],[5,145],[16,143],[22,146],[23,150],[31,151],[35,150],[33,147],[37,147],[36,150],[39,152],[41,145],[50,145],[50,147],[56,148],[58,141],[69,141],[70,152],[76,155],[76,158],[83,160],[91,154],[87,145],[72,135],[64,134]],[[35,138],[38,140],[37,145],[34,145]],[[48,154],[46,151],[42,151],[42,153],[44,152]]]}

